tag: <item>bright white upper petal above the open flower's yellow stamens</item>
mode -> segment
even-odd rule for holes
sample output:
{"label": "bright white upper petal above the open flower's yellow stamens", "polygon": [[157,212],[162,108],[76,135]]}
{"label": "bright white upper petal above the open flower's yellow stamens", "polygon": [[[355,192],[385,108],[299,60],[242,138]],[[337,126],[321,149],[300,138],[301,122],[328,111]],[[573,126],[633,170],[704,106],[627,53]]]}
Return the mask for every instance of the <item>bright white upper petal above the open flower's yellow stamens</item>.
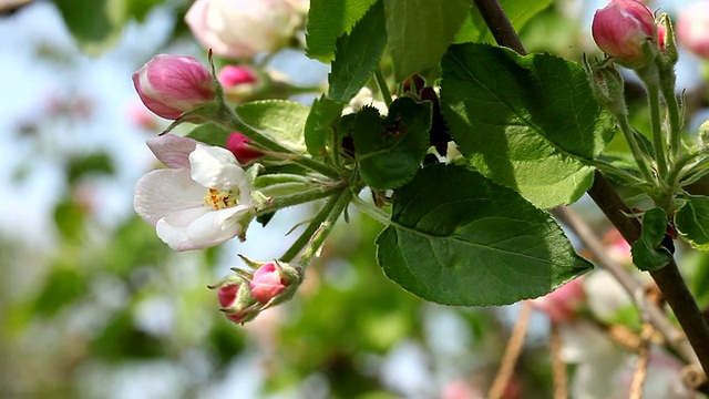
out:
{"label": "bright white upper petal above the open flower's yellow stamens", "polygon": [[198,143],[189,154],[189,164],[192,178],[205,187],[226,191],[239,186],[246,178],[236,157],[226,149]]}

